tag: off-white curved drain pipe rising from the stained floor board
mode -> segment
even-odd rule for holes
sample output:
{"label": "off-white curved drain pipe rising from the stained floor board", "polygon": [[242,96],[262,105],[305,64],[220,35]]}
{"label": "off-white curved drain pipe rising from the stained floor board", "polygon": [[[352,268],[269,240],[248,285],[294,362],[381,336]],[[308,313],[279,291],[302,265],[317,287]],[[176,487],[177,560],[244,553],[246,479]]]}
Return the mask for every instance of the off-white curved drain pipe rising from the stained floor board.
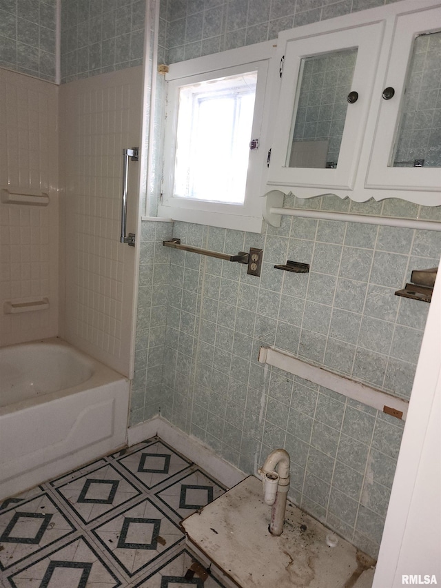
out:
{"label": "off-white curved drain pipe rising from the stained floor board", "polygon": [[[273,505],[269,532],[271,535],[279,536],[283,532],[289,490],[289,454],[285,452],[285,449],[275,449],[266,458],[263,466],[258,469],[258,474],[263,476],[265,503]],[[272,500],[275,480],[277,480],[277,492]]]}

